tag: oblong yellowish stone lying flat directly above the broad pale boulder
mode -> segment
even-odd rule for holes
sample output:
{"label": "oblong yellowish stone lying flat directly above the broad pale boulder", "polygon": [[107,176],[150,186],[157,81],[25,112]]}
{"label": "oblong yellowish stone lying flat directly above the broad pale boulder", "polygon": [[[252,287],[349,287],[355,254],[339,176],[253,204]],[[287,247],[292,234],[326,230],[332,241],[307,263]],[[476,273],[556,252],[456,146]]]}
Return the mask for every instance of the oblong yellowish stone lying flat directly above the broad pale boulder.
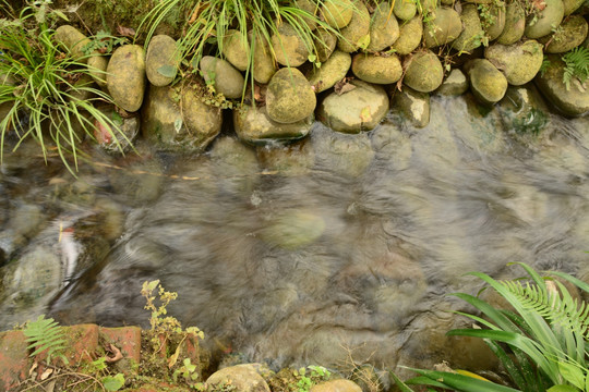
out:
{"label": "oblong yellowish stone lying flat directly above the broad pale boulder", "polygon": [[375,56],[357,53],[352,61],[352,72],[364,82],[392,84],[400,79],[402,68],[398,56]]}

